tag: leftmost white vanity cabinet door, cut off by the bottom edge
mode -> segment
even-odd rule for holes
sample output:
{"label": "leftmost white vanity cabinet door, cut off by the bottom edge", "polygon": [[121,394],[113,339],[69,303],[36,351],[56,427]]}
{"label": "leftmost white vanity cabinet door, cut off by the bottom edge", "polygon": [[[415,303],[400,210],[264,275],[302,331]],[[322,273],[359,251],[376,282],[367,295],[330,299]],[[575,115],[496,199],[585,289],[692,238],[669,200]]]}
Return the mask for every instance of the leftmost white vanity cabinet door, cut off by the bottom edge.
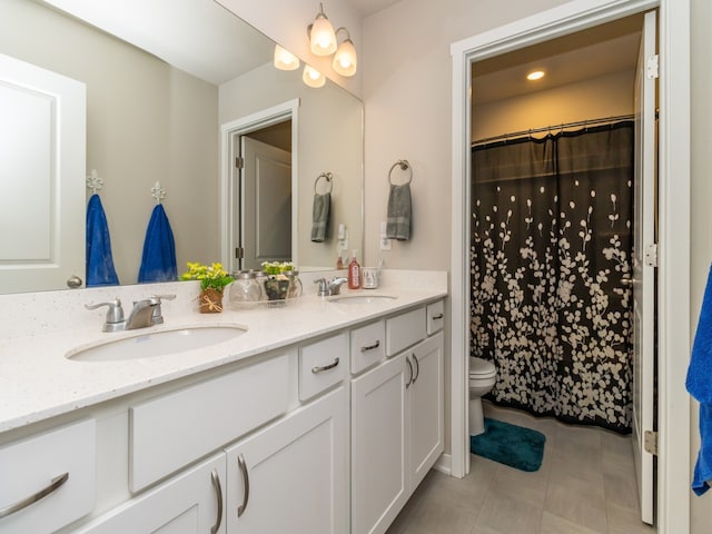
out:
{"label": "leftmost white vanity cabinet door, cut off by the bottom edge", "polygon": [[82,534],[225,534],[220,453],[79,530]]}

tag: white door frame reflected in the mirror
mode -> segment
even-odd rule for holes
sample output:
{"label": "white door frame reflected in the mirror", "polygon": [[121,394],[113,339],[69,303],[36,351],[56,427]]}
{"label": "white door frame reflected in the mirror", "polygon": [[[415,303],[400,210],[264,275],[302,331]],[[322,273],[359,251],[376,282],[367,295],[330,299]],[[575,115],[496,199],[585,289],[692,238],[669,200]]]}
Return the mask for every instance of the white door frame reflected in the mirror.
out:
{"label": "white door frame reflected in the mirror", "polygon": [[230,176],[234,167],[233,146],[235,138],[291,119],[291,261],[297,261],[297,206],[298,195],[298,109],[299,99],[295,98],[271,108],[256,111],[246,117],[220,126],[220,261],[228,266],[231,261],[231,244],[235,243],[234,229],[237,214],[233,209],[233,184]]}

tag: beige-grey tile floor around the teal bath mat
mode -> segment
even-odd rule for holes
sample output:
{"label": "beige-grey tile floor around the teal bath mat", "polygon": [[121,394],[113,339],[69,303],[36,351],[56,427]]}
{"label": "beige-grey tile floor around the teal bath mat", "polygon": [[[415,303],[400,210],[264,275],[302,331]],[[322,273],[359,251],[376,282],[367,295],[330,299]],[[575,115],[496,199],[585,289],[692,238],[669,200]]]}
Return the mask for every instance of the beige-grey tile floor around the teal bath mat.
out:
{"label": "beige-grey tile floor around the teal bath mat", "polygon": [[463,479],[432,471],[387,534],[652,534],[640,521],[631,438],[485,404],[546,436],[540,471],[472,456]]}

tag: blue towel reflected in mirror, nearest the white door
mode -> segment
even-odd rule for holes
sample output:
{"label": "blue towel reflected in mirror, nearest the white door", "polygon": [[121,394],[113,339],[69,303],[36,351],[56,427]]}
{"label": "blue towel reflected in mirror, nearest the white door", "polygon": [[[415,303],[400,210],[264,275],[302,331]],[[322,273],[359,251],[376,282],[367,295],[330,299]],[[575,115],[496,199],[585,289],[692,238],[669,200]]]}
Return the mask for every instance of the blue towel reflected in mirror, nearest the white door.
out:
{"label": "blue towel reflected in mirror, nearest the white door", "polygon": [[111,238],[99,195],[87,205],[87,287],[116,286],[119,277],[113,268]]}

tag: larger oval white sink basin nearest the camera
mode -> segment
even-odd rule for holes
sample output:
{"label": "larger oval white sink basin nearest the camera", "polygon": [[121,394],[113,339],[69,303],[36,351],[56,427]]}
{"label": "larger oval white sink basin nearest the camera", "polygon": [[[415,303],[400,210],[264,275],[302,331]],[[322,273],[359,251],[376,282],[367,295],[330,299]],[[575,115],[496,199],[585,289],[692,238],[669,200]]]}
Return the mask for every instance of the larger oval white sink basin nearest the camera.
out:
{"label": "larger oval white sink basin nearest the camera", "polygon": [[[234,339],[247,332],[239,325],[189,326],[107,339],[87,347],[76,348],[66,357],[76,362],[119,362],[128,359],[152,358],[168,354],[184,353],[200,347]],[[110,334],[109,334],[110,335]]]}

